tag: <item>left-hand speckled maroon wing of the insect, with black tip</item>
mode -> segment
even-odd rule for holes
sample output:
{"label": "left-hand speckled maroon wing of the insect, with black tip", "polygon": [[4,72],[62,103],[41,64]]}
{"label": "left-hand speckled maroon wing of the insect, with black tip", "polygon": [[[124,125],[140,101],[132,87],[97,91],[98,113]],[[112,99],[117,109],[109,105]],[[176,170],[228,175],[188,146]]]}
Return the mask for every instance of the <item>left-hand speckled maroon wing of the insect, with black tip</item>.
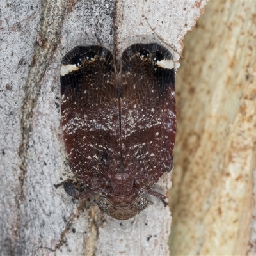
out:
{"label": "left-hand speckled maroon wing of the insect, with black tip", "polygon": [[72,170],[100,193],[121,159],[118,82],[108,49],[77,46],[63,58],[61,112]]}

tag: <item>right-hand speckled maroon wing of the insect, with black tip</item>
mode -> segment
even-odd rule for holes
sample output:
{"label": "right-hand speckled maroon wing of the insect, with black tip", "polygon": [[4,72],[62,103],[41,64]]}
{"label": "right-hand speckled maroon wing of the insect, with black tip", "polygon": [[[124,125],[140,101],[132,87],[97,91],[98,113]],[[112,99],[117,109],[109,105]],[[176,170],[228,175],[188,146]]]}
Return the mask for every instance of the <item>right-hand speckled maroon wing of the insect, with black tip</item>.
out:
{"label": "right-hand speckled maroon wing of the insect, with black tip", "polygon": [[122,54],[121,141],[127,173],[150,189],[172,168],[176,132],[172,55],[159,44],[134,44]]}

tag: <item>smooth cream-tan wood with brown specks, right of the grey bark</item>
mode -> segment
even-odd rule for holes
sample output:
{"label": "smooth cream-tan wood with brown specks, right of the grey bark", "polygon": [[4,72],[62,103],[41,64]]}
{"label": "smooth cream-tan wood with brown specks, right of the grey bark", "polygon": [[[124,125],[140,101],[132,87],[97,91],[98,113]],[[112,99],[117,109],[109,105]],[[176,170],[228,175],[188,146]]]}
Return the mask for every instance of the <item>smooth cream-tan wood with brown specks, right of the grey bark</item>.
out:
{"label": "smooth cream-tan wood with brown specks, right of the grey bark", "polygon": [[255,17],[252,2],[210,2],[185,37],[171,255],[255,255]]}

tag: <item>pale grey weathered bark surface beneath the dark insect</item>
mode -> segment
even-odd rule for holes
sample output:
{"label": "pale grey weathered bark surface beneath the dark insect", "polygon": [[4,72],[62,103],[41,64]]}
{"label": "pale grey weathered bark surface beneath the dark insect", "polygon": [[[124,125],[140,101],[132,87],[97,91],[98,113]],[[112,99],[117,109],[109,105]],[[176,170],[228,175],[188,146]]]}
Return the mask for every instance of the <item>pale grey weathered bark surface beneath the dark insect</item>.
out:
{"label": "pale grey weathered bark surface beneath the dark insect", "polygon": [[[60,126],[60,63],[76,45],[159,42],[177,62],[206,1],[0,1],[0,255],[168,255],[156,198],[132,220],[72,200]],[[176,63],[176,70],[179,63]],[[168,182],[166,182],[168,180]],[[166,185],[168,184],[168,185]],[[158,191],[170,188],[170,175]]]}

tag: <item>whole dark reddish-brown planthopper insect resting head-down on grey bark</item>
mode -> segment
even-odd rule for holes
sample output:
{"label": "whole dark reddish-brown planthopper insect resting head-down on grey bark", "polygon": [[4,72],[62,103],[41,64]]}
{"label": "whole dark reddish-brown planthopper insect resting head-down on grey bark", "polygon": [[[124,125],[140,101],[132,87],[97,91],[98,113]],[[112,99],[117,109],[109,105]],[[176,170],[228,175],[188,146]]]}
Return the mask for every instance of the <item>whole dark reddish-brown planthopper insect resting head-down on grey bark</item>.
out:
{"label": "whole dark reddish-brown planthopper insect resting head-down on grey bark", "polygon": [[173,168],[176,132],[175,71],[160,44],[133,44],[117,70],[113,54],[99,45],[77,46],[61,62],[61,122],[74,198],[100,195],[99,209],[118,220],[152,204],[145,194]]}

